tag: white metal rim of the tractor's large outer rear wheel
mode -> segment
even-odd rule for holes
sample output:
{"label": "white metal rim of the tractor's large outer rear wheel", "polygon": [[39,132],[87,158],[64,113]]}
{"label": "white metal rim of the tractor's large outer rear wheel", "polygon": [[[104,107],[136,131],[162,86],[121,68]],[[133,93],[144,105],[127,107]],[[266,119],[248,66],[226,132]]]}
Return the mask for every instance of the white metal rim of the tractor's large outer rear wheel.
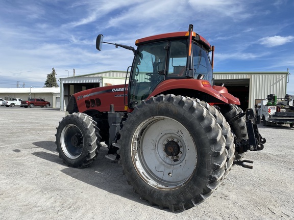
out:
{"label": "white metal rim of the tractor's large outer rear wheel", "polygon": [[133,164],[140,177],[160,189],[176,189],[192,176],[197,151],[189,131],[169,117],[143,121],[132,138]]}

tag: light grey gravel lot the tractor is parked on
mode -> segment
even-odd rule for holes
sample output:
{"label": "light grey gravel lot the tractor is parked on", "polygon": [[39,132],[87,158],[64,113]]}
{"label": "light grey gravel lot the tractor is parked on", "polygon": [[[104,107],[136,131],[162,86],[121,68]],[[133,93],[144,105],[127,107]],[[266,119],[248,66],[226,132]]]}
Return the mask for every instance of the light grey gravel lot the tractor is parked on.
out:
{"label": "light grey gravel lot the tractor is parked on", "polygon": [[261,125],[253,170],[234,166],[205,202],[172,213],[141,201],[106,147],[91,167],[66,167],[54,143],[64,114],[0,107],[0,219],[294,219],[294,128]]}

